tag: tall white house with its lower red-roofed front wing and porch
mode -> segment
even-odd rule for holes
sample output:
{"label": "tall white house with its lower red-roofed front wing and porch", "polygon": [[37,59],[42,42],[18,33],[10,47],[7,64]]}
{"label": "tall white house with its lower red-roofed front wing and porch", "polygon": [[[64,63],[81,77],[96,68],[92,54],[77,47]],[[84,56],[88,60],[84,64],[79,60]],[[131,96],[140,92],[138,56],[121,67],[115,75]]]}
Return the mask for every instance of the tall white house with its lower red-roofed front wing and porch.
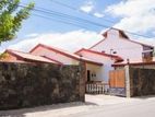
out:
{"label": "tall white house with its lower red-roofed front wing and porch", "polygon": [[[98,69],[87,66],[87,78],[92,73],[93,81],[108,82],[109,71],[128,62],[153,61],[154,47],[131,40],[123,31],[110,28],[103,34],[104,39],[88,49],[80,49],[75,54],[104,63]],[[124,67],[124,66],[123,66]],[[93,75],[95,74],[95,77]]]}

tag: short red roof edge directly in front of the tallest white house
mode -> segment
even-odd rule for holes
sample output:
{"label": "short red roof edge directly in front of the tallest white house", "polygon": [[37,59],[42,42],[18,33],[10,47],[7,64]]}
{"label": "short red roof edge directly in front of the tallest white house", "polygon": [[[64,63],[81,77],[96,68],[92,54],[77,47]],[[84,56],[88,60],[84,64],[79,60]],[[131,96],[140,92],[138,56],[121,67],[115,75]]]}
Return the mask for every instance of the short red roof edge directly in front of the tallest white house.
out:
{"label": "short red roof edge directly in front of the tallest white house", "polygon": [[81,51],[87,51],[87,52],[92,52],[92,54],[96,54],[96,55],[100,55],[100,56],[105,56],[105,57],[110,57],[110,58],[116,59],[117,61],[123,61],[123,59],[119,56],[114,56],[114,55],[109,55],[109,54],[105,54],[105,52],[98,52],[98,51],[85,49],[85,48],[78,50],[75,54],[79,55],[79,52],[81,52]]}

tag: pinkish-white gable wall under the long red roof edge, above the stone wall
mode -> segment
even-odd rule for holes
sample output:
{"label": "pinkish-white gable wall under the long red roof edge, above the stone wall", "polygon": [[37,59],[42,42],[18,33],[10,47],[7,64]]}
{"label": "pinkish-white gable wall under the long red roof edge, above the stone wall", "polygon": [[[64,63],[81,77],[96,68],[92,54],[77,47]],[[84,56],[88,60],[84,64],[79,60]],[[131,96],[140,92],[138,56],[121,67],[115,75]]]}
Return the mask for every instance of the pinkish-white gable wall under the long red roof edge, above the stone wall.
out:
{"label": "pinkish-white gable wall under the long red roof edge, above the stone wall", "polygon": [[46,56],[51,59],[58,60],[62,62],[63,65],[79,65],[79,61],[72,58],[69,58],[67,56],[63,56],[59,52],[46,49],[44,47],[37,47],[32,54],[38,55],[38,56]]}

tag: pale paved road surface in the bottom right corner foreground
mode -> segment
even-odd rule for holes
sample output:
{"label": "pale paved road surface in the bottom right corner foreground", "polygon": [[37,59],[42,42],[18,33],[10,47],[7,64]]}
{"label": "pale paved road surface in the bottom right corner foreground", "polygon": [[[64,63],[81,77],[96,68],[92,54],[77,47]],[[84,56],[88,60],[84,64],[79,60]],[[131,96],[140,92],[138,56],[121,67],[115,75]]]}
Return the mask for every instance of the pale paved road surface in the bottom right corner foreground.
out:
{"label": "pale paved road surface in the bottom right corner foreground", "polygon": [[99,106],[68,117],[155,117],[155,98],[142,98],[132,103]]}

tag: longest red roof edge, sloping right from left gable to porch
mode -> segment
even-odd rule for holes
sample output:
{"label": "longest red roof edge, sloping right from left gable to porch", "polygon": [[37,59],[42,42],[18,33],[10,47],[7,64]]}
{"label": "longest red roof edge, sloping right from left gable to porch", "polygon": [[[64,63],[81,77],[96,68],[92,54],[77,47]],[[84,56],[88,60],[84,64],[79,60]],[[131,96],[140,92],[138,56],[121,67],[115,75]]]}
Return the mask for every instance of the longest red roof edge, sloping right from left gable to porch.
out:
{"label": "longest red roof edge, sloping right from left gable to porch", "polygon": [[[100,62],[91,60],[91,59],[88,59],[88,58],[80,57],[80,56],[78,56],[78,55],[75,55],[75,54],[69,52],[69,51],[63,50],[63,49],[60,49],[60,48],[49,47],[49,46],[43,45],[43,44],[38,44],[38,45],[37,45],[36,47],[34,47],[29,52],[33,52],[37,47],[44,47],[44,48],[46,48],[46,49],[56,51],[56,52],[58,52],[58,54],[61,54],[61,55],[63,55],[63,56],[65,56],[65,57],[69,57],[69,58],[72,58],[72,59],[75,59],[75,60],[79,60],[79,61],[80,61],[80,60],[83,60],[83,61],[88,62],[88,63],[93,63],[93,65],[97,65],[97,66],[103,66],[103,63],[100,63]],[[47,57],[46,57],[46,58],[47,58]],[[48,59],[50,59],[50,58],[48,58]],[[51,58],[51,59],[52,59],[52,58]]]}

